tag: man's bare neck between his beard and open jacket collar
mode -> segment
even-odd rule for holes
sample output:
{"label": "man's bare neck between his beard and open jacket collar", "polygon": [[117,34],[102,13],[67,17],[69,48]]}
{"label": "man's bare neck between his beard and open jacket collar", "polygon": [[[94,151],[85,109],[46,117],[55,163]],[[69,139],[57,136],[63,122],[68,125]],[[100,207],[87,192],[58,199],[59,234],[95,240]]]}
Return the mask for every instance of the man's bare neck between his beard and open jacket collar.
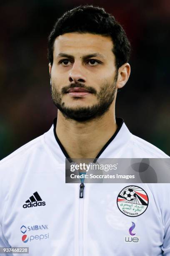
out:
{"label": "man's bare neck between his beard and open jacket collar", "polygon": [[115,109],[82,123],[66,119],[58,110],[56,134],[70,158],[94,159],[116,130]]}

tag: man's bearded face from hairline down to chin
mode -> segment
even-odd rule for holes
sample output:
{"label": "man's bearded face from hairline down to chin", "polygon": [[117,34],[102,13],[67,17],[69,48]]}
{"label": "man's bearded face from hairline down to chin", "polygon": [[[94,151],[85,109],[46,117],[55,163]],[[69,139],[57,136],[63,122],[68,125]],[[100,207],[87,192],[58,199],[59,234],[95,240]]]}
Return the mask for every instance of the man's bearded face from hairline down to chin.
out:
{"label": "man's bearded face from hairline down to chin", "polygon": [[112,48],[110,37],[91,33],[66,33],[55,39],[52,100],[66,118],[91,120],[109,109],[117,91]]}

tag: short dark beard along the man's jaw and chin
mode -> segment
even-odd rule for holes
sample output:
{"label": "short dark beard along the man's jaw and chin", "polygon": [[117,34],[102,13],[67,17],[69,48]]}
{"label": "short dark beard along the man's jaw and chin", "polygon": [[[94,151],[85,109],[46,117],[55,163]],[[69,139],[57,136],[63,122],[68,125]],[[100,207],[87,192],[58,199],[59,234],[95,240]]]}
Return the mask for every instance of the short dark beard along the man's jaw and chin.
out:
{"label": "short dark beard along the man's jaw and chin", "polygon": [[[104,113],[107,112],[110,105],[112,104],[114,98],[115,98],[115,92],[116,92],[116,81],[117,77],[115,78],[115,81],[113,84],[105,84],[101,89],[99,93],[94,94],[97,96],[98,103],[93,105],[92,107],[77,107],[77,108],[68,108],[65,107],[65,103],[62,102],[61,99],[61,93],[57,91],[56,87],[53,85],[51,88],[51,94],[52,94],[52,101],[54,105],[61,111],[61,113],[65,116],[66,119],[72,119],[78,122],[85,122],[88,120],[92,120],[95,118],[100,118]],[[69,87],[66,88],[73,88],[77,87],[79,84],[72,84]],[[80,87],[85,88],[80,85]],[[86,87],[86,88],[92,88],[92,87]],[[92,89],[91,89],[92,91]],[[75,97],[75,100],[77,98]]]}

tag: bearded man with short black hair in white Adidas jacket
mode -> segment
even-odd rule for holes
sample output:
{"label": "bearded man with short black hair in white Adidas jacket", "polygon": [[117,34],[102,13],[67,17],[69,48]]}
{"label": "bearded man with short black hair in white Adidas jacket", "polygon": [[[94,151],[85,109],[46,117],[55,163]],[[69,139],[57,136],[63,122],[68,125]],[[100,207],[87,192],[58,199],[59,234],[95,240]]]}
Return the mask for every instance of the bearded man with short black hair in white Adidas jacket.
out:
{"label": "bearded man with short black hair in white Adidas jacket", "polygon": [[[57,119],[1,161],[0,246],[31,256],[170,255],[167,184],[65,184],[65,158],[168,157],[115,118],[130,76],[125,32],[104,9],[84,6],[57,20],[48,43]],[[135,216],[117,203],[130,192]]]}

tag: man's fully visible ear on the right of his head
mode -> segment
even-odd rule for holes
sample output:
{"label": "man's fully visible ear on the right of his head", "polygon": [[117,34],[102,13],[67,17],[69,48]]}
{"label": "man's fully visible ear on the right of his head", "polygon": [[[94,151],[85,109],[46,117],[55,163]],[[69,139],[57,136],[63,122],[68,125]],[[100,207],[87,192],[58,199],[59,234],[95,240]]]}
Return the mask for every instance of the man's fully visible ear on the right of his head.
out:
{"label": "man's fully visible ear on the right of his head", "polygon": [[129,63],[125,63],[118,69],[117,88],[122,88],[128,81],[129,76],[130,65]]}

